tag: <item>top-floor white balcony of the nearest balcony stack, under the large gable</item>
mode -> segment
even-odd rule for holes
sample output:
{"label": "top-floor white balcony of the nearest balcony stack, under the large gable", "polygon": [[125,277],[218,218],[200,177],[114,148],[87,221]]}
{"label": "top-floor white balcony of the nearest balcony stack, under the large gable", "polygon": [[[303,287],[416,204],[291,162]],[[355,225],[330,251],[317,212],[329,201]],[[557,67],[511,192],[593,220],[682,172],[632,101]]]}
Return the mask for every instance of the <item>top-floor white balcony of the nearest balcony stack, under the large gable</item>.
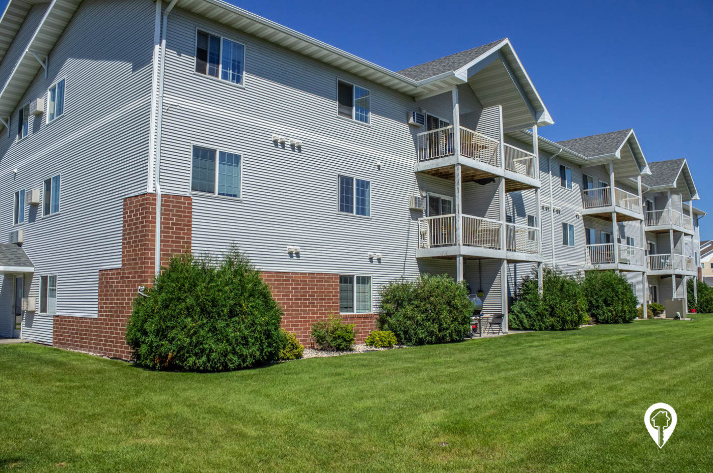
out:
{"label": "top-floor white balcony of the nearest balcony stack, under the large gable", "polygon": [[459,159],[456,159],[452,125],[419,133],[416,172],[453,180],[453,165],[461,164],[464,166],[461,175],[466,181],[505,177],[507,192],[539,187],[533,153],[507,143],[503,145],[500,140],[468,128],[460,127],[459,133]]}

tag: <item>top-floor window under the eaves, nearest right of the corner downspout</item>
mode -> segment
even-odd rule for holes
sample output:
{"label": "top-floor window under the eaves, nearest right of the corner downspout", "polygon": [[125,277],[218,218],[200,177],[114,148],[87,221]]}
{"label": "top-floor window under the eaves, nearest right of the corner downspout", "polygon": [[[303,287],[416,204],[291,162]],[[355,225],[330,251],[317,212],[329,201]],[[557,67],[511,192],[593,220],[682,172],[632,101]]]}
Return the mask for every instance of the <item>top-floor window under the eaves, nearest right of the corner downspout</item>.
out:
{"label": "top-floor window under the eaves, nearest right of the corner downspout", "polygon": [[195,72],[242,85],[245,46],[198,30]]}

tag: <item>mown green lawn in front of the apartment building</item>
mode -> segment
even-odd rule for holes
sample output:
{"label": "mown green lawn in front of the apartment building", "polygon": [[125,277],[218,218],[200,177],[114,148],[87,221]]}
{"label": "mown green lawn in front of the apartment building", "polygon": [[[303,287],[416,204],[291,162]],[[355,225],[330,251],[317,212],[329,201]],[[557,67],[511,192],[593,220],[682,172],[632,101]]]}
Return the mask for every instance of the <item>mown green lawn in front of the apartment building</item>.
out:
{"label": "mown green lawn in front of the apartment building", "polygon": [[[0,470],[710,472],[713,316],[155,373],[0,346]],[[643,417],[678,414],[659,449]]]}

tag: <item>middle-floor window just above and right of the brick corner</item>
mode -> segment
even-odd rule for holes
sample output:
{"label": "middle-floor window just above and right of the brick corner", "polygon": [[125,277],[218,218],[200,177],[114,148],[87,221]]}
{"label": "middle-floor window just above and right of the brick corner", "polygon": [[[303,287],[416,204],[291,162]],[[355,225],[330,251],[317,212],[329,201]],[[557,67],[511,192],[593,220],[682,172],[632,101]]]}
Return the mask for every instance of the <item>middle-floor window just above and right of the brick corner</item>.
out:
{"label": "middle-floor window just above and right of the brick corner", "polygon": [[194,146],[190,189],[239,199],[241,166],[241,155]]}

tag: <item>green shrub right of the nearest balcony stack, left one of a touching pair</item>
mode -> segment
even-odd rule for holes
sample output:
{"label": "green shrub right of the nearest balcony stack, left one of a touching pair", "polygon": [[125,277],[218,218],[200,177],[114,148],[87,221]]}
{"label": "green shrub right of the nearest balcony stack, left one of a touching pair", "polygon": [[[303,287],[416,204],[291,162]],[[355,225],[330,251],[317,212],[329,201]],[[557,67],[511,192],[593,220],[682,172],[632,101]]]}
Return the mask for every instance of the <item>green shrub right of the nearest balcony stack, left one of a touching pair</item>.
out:
{"label": "green shrub right of the nearest balcony stack, left one of a touching pair", "polygon": [[588,323],[586,308],[580,282],[545,266],[542,294],[538,293],[536,274],[526,276],[520,283],[509,325],[516,330],[573,330]]}

